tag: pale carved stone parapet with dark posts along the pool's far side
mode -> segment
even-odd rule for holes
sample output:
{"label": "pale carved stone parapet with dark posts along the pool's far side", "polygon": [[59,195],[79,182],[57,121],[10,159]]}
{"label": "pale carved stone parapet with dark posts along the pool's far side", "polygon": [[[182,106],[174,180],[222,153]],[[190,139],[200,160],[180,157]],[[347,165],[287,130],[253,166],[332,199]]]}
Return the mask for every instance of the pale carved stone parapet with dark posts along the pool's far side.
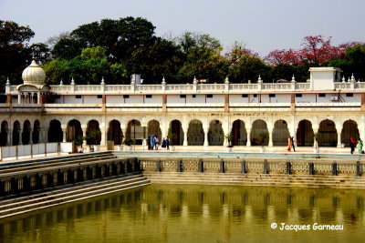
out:
{"label": "pale carved stone parapet with dark posts along the pool's far side", "polygon": [[287,174],[287,175],[349,175],[360,177],[365,164],[360,161],[249,161],[237,159],[198,158],[141,158],[141,167],[146,172],[201,172],[201,173],[243,173],[243,174]]}

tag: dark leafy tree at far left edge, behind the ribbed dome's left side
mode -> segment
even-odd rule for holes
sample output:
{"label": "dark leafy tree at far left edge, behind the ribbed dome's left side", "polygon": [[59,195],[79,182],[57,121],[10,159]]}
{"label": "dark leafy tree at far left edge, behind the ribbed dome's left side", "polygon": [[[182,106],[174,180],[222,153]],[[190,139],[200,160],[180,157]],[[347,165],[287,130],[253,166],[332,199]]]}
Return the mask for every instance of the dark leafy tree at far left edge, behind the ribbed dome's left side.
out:
{"label": "dark leafy tree at far left edge, behind the ribbed dome's left side", "polygon": [[28,26],[0,20],[0,82],[7,77],[12,83],[22,82],[22,71],[31,61],[28,42],[34,35]]}

